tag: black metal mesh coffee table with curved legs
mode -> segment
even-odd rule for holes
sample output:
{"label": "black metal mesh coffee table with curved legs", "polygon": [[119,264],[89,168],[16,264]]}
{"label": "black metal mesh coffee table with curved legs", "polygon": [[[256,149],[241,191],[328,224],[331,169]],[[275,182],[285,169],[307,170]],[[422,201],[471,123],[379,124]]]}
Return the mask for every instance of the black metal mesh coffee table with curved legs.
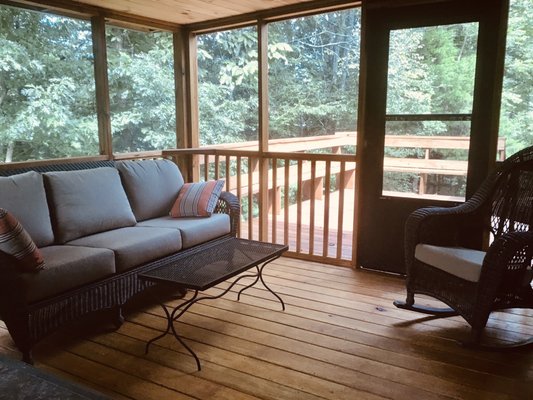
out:
{"label": "black metal mesh coffee table with curved legs", "polygon": [[[145,353],[148,353],[148,348],[153,342],[172,332],[174,337],[194,357],[198,371],[200,371],[201,365],[198,356],[177,333],[174,322],[193,304],[202,300],[218,299],[226,295],[244,278],[254,278],[254,280],[239,291],[237,301],[240,300],[242,292],[261,282],[279,300],[282,309],[285,310],[285,303],[281,297],[263,279],[263,269],[267,264],[279,258],[287,249],[287,246],[281,244],[228,237],[214,242],[208,248],[203,247],[201,251],[185,251],[184,256],[176,259],[175,262],[157,266],[148,272],[139,274],[141,281],[171,285],[179,290],[185,289],[194,292],[191,298],[173,308],[162,301],[159,302],[167,317],[167,327],[162,334],[146,343]],[[253,270],[251,273],[238,276],[221,294],[217,296],[199,296],[200,292],[250,269]]]}

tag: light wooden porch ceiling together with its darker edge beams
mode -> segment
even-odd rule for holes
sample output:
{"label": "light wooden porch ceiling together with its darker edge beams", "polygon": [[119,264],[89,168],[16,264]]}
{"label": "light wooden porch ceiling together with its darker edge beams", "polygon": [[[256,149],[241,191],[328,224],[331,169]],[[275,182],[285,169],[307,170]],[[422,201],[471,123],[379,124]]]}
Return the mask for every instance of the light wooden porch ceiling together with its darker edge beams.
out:
{"label": "light wooden porch ceiling together with its darker edge beams", "polygon": [[[0,0],[0,4],[126,27],[201,32],[358,6],[361,0]],[[127,24],[127,25],[125,25]]]}

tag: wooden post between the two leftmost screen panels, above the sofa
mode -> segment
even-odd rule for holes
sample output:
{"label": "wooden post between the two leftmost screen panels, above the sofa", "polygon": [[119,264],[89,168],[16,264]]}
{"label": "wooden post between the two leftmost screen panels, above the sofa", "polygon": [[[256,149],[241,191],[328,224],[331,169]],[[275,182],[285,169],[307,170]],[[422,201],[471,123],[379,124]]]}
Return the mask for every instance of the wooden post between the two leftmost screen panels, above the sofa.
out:
{"label": "wooden post between the two leftmost screen panels, above the sofa", "polygon": [[107,75],[107,43],[104,18],[92,17],[91,27],[100,154],[111,156],[113,154],[113,136],[111,131],[109,81]]}

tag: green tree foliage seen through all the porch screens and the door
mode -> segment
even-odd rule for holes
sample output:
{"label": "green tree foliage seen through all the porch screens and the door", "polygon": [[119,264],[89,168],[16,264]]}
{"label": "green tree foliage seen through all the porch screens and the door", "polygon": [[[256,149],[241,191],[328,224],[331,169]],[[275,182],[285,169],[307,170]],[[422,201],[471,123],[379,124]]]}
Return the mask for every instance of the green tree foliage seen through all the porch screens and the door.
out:
{"label": "green tree foliage seen through all the porch screens and the door", "polygon": [[[508,153],[533,144],[529,1],[511,1],[500,124]],[[360,29],[357,8],[268,25],[271,138],[355,130]],[[88,21],[0,6],[4,160],[99,152],[91,34]],[[476,24],[393,31],[387,112],[469,113],[476,37]],[[254,27],[198,36],[202,144],[257,140],[257,40]],[[108,26],[107,44],[114,151],[175,147],[172,35]],[[390,129],[465,135],[469,126],[429,121]]]}

